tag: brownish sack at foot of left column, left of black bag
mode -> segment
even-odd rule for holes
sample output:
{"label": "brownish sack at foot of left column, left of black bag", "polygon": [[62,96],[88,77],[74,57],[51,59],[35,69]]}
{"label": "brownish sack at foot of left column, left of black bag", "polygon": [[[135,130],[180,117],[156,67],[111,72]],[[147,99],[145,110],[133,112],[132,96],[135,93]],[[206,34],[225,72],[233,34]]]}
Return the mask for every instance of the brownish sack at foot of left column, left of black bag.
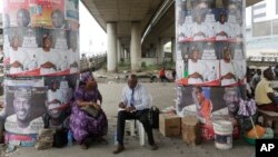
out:
{"label": "brownish sack at foot of left column, left of black bag", "polygon": [[53,145],[53,129],[40,130],[34,148],[38,150],[51,148]]}

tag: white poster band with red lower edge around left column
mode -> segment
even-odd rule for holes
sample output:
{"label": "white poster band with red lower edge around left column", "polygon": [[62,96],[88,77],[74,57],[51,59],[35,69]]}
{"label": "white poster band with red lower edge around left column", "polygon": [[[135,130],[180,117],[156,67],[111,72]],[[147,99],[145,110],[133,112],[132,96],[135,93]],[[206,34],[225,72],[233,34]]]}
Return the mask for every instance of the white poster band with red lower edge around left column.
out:
{"label": "white poster band with red lower edge around left column", "polygon": [[8,75],[63,76],[78,73],[78,31],[43,28],[4,29]]}

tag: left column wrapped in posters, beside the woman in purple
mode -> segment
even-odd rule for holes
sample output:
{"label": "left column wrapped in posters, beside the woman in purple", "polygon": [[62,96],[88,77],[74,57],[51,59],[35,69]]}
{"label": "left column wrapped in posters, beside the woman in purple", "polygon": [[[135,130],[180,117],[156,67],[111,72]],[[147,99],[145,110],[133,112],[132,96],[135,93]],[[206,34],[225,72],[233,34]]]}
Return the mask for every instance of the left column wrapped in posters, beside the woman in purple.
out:
{"label": "left column wrapped in posters, beside the woman in purple", "polygon": [[[79,79],[79,0],[3,0],[6,141],[63,127]],[[44,120],[44,121],[43,121]]]}

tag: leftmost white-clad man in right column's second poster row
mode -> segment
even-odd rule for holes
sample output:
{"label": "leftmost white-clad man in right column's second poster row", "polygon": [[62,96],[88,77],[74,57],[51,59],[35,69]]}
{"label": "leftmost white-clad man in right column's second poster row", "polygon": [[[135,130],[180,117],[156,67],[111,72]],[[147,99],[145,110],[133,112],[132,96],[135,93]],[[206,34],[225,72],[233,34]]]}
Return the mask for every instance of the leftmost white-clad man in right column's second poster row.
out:
{"label": "leftmost white-clad man in right column's second poster row", "polygon": [[205,62],[199,60],[200,51],[198,48],[193,48],[188,60],[188,84],[202,84],[203,73],[207,72],[207,66]]}

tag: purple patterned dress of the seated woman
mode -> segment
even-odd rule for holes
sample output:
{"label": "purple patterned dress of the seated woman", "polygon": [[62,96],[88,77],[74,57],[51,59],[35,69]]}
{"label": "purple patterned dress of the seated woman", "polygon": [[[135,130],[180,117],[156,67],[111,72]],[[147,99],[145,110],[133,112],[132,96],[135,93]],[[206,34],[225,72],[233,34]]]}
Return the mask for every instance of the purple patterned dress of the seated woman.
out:
{"label": "purple patterned dress of the seated woman", "polygon": [[75,102],[71,108],[70,129],[73,138],[80,144],[88,137],[101,137],[107,135],[108,121],[106,114],[101,110],[99,117],[93,118],[80,110],[77,101],[102,101],[102,97],[98,89],[86,91],[85,88],[79,87],[75,92]]}

